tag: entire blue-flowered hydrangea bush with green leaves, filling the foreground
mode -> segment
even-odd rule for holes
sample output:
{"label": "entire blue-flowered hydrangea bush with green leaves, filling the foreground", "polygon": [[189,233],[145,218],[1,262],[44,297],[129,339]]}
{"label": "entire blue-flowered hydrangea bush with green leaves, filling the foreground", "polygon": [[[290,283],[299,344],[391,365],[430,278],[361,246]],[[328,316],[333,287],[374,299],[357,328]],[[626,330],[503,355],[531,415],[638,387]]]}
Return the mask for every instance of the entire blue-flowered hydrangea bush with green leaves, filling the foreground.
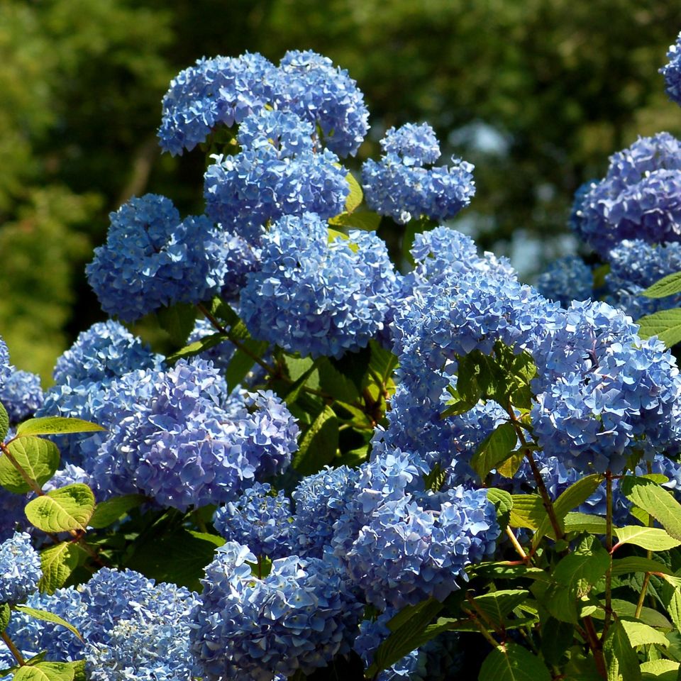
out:
{"label": "entire blue-flowered hydrangea bush with green leaves, filling the foreground", "polygon": [[[204,214],[111,214],[111,319],[45,394],[0,340],[0,678],[680,677],[681,143],[611,157],[570,216],[589,264],[531,287],[439,224],[472,165],[406,123],[358,181],[367,130],[314,52],[173,79]],[[382,221],[419,226],[410,270]]]}

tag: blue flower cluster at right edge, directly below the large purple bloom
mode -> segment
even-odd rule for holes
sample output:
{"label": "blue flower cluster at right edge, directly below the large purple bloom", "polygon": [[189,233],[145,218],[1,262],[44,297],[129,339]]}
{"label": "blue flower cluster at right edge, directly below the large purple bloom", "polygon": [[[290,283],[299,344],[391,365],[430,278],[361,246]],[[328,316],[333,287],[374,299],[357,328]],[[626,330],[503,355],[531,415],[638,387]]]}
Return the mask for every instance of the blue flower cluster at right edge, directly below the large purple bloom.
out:
{"label": "blue flower cluster at right edge, directly below the large purple bloom", "polygon": [[610,272],[605,277],[606,300],[633,319],[681,304],[681,296],[647,298],[644,289],[662,277],[681,271],[681,243],[650,244],[625,239],[608,253]]}

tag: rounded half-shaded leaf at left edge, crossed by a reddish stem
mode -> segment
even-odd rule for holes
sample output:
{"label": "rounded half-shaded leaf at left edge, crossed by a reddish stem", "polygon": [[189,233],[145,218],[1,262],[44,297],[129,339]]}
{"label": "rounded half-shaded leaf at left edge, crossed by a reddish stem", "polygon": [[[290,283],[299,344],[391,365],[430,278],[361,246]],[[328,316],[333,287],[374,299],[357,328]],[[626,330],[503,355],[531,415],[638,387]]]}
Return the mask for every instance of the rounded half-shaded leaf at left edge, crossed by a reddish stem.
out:
{"label": "rounded half-shaded leaf at left edge, crossed by a reddish stem", "polygon": [[[49,440],[25,437],[11,441],[7,448],[26,476],[35,480],[38,487],[43,487],[59,467],[59,448]],[[31,490],[31,485],[6,455],[0,455],[0,485],[15,494],[26,494]]]}

